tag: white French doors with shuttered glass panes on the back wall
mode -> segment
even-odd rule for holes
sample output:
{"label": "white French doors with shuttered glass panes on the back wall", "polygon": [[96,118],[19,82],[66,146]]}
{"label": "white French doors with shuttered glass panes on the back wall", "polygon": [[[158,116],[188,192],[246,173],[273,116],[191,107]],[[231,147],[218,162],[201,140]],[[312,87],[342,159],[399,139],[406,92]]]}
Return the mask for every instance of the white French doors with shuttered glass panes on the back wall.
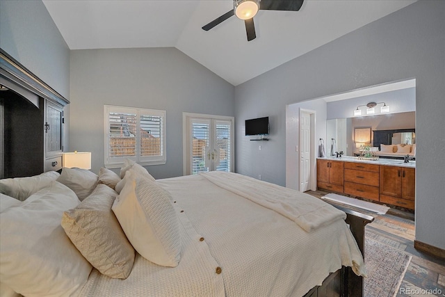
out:
{"label": "white French doors with shuttered glass panes on the back wall", "polygon": [[232,117],[184,113],[184,174],[233,171]]}

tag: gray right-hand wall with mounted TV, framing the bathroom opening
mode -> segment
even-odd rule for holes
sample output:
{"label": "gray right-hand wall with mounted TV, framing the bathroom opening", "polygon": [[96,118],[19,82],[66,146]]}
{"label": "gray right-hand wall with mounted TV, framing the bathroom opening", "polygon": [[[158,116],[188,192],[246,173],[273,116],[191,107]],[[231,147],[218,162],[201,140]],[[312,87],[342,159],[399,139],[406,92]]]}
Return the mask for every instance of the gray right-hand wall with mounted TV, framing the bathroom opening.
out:
{"label": "gray right-hand wall with mounted TV, framing the bathroom opening", "polygon": [[[286,104],[410,78],[419,135],[416,240],[445,248],[445,1],[417,1],[237,86],[237,172],[285,184]],[[272,141],[259,156],[243,120],[264,115],[273,118]]]}

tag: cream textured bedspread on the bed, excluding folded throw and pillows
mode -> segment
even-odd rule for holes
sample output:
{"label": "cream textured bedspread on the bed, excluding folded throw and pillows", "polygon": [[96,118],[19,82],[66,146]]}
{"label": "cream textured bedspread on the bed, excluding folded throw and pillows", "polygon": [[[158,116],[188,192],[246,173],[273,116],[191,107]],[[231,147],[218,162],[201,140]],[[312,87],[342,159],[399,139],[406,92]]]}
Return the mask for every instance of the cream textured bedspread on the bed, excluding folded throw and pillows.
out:
{"label": "cream textured bedspread on the bed, excluding folded throw and pillows", "polygon": [[364,273],[362,255],[343,220],[306,232],[202,175],[157,182],[176,201],[181,262],[161,267],[137,255],[127,280],[93,269],[82,296],[302,296],[342,264]]}

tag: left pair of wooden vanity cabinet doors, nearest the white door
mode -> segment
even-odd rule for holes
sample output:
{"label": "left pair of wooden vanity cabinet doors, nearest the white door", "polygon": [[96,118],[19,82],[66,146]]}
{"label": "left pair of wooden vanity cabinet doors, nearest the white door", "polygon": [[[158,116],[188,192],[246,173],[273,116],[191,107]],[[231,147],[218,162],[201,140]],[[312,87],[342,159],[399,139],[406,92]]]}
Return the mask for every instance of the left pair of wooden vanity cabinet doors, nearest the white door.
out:
{"label": "left pair of wooden vanity cabinet doors, nearest the white door", "polygon": [[343,193],[343,161],[317,160],[317,186]]}

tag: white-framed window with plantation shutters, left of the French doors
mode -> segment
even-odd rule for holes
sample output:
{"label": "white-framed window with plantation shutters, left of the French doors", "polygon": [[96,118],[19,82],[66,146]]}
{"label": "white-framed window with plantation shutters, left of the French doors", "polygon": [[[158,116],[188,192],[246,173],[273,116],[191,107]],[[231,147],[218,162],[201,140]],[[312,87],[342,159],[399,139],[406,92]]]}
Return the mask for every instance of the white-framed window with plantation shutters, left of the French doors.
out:
{"label": "white-framed window with plantation shutters, left of the French doors", "polygon": [[119,167],[127,158],[165,164],[165,111],[105,105],[104,115],[106,167]]}

